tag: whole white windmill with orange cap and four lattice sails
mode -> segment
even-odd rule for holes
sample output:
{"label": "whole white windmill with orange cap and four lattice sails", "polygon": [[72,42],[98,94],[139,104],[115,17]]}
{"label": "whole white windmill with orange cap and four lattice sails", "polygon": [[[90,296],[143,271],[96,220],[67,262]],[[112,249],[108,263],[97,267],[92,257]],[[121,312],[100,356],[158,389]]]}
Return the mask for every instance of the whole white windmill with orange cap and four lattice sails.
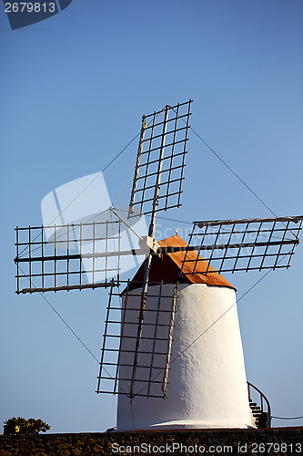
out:
{"label": "whole white windmill with orange cap and four lattice sails", "polygon": [[[299,243],[303,216],[196,221],[187,243],[155,239],[157,212],[181,205],[191,103],[143,116],[127,211],[16,228],[17,294],[109,288],[96,392],[118,395],[117,430],[257,426],[236,288],[222,273],[288,268]],[[134,254],[144,263],[121,280]]]}

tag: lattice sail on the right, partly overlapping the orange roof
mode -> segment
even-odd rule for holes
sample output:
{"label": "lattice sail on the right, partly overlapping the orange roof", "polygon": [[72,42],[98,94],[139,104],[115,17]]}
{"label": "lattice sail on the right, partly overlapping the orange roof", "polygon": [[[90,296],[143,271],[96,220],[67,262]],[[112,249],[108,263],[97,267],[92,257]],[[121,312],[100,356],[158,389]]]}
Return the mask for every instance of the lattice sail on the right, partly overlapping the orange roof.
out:
{"label": "lattice sail on the right, partly overlapping the orange roof", "polygon": [[302,219],[298,216],[194,222],[182,272],[221,274],[288,268],[299,242]]}

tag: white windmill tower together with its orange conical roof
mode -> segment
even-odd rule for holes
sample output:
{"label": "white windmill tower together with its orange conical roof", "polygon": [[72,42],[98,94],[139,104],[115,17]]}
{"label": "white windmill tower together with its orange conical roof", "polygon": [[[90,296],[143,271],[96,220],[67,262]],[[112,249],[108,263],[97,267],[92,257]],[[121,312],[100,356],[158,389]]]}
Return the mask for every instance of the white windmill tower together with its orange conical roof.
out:
{"label": "white windmill tower together with its orange conical roof", "polygon": [[[164,249],[187,246],[177,235],[159,244]],[[185,252],[176,252],[152,260],[144,320],[146,330],[141,337],[142,351],[138,360],[141,369],[137,368],[136,373],[138,397],[135,392],[135,399],[130,403],[125,395],[119,395],[117,430],[134,429],[133,417],[137,430],[245,428],[253,425],[237,306],[234,306],[235,288],[222,275],[200,274],[206,262],[199,264],[193,275],[181,278],[184,257]],[[140,307],[138,291],[142,279],[143,267],[123,294],[126,309]],[[152,285],[161,283],[161,280],[162,285]],[[226,317],[221,318],[205,337],[199,337],[230,307]],[[137,315],[134,311],[126,312],[128,318],[124,320],[122,347],[129,349],[134,344],[132,324]],[[167,337],[168,328],[171,333],[168,330]],[[192,344],[194,340],[196,343]],[[125,359],[131,366],[132,352],[127,352]],[[148,367],[149,384],[144,366]],[[127,368],[120,367],[119,378],[127,377]],[[161,389],[156,383],[160,379]],[[127,380],[119,380],[119,386],[127,390]],[[157,391],[162,392],[166,399],[148,397],[148,393],[153,395]],[[140,392],[144,396],[140,396]]]}

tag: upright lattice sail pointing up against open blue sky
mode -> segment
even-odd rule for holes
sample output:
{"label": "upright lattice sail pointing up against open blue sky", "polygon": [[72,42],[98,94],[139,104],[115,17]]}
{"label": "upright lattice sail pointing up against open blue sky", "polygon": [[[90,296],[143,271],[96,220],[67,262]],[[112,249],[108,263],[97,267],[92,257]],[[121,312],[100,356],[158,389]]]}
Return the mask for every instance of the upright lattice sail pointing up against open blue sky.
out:
{"label": "upright lattice sail pointing up against open blue sky", "polygon": [[143,117],[129,217],[181,205],[191,102]]}

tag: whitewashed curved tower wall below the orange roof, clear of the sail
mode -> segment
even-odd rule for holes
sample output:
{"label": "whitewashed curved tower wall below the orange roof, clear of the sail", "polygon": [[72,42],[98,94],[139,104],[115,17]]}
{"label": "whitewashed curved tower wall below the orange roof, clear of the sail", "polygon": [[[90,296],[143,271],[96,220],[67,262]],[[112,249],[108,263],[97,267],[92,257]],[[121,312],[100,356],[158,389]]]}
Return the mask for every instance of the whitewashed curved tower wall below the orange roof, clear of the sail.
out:
{"label": "whitewashed curved tower wall below the orange roof, clear of the sail", "polygon": [[[153,289],[157,294],[158,286]],[[164,285],[163,294],[172,295],[173,289]],[[139,306],[138,297],[128,299],[131,306]],[[149,300],[157,306],[157,298]],[[235,303],[232,288],[179,285],[171,360]],[[126,389],[126,382],[120,385]],[[252,426],[237,306],[171,364],[167,399],[135,397],[133,411],[136,430]],[[133,429],[130,400],[119,395],[117,430]]]}

